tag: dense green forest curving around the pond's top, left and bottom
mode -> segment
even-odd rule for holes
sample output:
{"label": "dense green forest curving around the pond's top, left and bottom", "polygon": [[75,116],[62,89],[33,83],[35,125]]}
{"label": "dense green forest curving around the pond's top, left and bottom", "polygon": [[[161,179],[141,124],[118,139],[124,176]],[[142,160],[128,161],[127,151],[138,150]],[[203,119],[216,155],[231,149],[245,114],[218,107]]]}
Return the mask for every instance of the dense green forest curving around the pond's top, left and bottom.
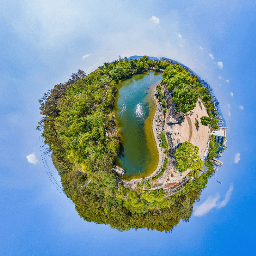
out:
{"label": "dense green forest curving around the pond's top, left and bottom", "polygon": [[[147,56],[135,60],[119,58],[104,63],[89,75],[78,70],[69,81],[55,85],[40,100],[43,117],[37,129],[49,145],[64,192],[83,219],[109,224],[119,231],[131,228],[169,231],[180,219],[188,221],[193,203],[199,200],[213,171],[211,162],[206,162],[209,169],[205,174],[169,197],[165,197],[163,189],[148,192],[142,185],[137,185],[136,190],[125,188],[111,172],[119,153],[112,114],[116,85],[134,74],[147,72],[150,67],[165,69],[162,83],[172,91],[177,110],[184,113],[192,110],[201,97],[211,115],[211,96],[197,77],[185,72],[179,64],[154,61]],[[216,145],[211,146],[214,150]],[[199,166],[201,163],[194,169]]]}

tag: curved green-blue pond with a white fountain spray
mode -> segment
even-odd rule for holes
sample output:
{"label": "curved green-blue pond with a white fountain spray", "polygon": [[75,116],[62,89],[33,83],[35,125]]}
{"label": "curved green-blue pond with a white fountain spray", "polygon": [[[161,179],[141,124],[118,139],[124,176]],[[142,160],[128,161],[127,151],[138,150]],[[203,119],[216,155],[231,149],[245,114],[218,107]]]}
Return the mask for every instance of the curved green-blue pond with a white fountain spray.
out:
{"label": "curved green-blue pond with a white fountain spray", "polygon": [[125,169],[122,179],[146,177],[158,164],[158,151],[152,131],[155,115],[153,90],[161,82],[161,73],[137,74],[118,84],[114,113],[119,130],[121,152],[116,164]]}

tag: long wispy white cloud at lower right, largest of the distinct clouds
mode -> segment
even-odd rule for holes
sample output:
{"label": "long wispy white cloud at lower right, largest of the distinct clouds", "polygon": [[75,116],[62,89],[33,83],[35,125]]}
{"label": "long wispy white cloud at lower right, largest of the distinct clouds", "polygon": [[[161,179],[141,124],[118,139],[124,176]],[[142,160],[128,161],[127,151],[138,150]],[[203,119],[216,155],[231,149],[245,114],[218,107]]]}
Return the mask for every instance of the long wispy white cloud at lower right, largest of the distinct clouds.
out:
{"label": "long wispy white cloud at lower right, largest of the distinct clouds", "polygon": [[234,189],[233,184],[231,184],[229,186],[229,190],[225,194],[225,198],[222,201],[219,201],[219,197],[220,197],[219,193],[217,193],[216,196],[214,197],[209,196],[207,200],[204,201],[201,205],[199,205],[198,207],[195,207],[194,216],[201,217],[206,215],[213,208],[220,209],[226,206],[231,198],[233,189]]}

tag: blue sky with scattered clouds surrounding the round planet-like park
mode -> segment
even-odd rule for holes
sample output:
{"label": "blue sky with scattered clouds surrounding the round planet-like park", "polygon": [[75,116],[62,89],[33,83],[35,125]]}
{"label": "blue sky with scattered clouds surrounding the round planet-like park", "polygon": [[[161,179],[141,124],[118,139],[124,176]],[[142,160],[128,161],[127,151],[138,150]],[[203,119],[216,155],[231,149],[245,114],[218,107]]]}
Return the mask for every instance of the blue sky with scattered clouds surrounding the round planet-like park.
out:
{"label": "blue sky with scattered clouds surrounding the round planet-like park", "polygon": [[[253,255],[255,1],[4,0],[0,17],[0,255]],[[38,99],[119,55],[187,65],[210,83],[229,127],[214,175],[222,185],[211,178],[172,234],[84,221],[41,159]]]}

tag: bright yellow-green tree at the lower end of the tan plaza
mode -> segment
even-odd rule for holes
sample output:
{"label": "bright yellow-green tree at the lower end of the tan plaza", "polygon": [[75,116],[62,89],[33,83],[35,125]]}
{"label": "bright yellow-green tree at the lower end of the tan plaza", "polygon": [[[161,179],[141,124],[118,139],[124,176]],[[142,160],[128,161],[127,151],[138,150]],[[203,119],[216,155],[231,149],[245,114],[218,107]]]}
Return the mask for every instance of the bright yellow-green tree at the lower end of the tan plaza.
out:
{"label": "bright yellow-green tree at the lower end of the tan plaza", "polygon": [[199,170],[203,165],[201,157],[198,155],[199,148],[185,141],[178,145],[174,155],[176,157],[176,170],[183,173],[190,170]]}

